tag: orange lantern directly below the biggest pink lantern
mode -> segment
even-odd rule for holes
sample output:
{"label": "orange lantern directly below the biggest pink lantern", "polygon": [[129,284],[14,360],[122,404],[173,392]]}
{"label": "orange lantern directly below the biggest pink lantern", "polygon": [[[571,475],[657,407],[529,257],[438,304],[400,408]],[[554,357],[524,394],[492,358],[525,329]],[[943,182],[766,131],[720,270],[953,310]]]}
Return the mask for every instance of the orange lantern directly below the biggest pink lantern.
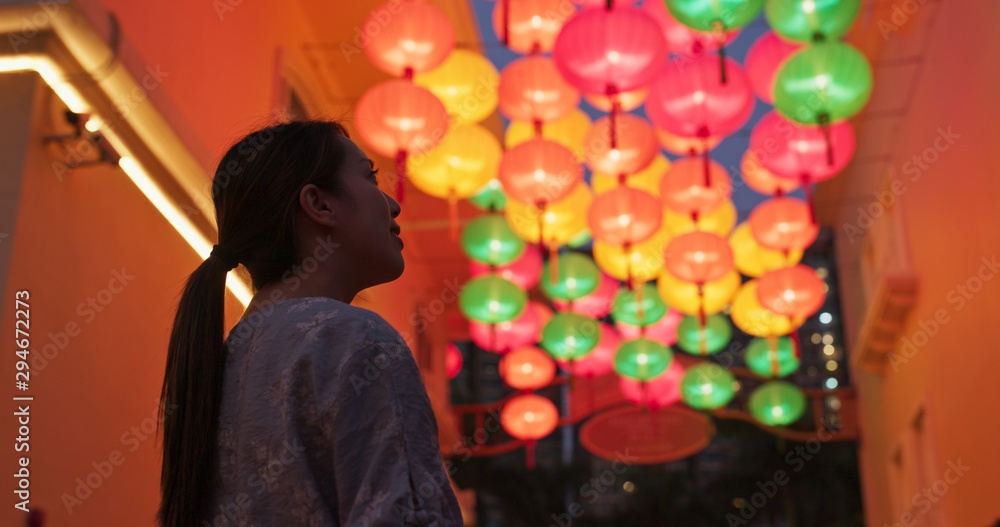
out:
{"label": "orange lantern directly below the biggest pink lantern", "polygon": [[629,113],[598,119],[583,144],[590,170],[609,175],[634,174],[646,168],[659,150],[649,123]]}

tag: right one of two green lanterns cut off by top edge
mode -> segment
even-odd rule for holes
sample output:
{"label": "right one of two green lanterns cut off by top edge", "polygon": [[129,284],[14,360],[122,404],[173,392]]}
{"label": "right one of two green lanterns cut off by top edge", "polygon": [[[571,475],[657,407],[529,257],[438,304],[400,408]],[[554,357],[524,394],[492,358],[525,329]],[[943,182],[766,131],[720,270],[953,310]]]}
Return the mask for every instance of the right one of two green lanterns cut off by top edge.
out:
{"label": "right one of two green lanterns cut off by top edge", "polygon": [[768,0],[764,13],[789,40],[823,42],[844,36],[860,7],[861,0]]}

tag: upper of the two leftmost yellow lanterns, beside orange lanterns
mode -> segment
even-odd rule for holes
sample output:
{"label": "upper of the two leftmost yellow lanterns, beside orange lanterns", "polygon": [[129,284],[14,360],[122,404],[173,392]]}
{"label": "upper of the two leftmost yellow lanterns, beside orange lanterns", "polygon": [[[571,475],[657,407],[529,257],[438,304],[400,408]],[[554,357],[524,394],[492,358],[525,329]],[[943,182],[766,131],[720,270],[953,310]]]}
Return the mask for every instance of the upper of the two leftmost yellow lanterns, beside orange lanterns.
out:
{"label": "upper of the two leftmost yellow lanterns, beside orange lanterns", "polygon": [[478,123],[496,110],[499,101],[496,67],[465,49],[452,51],[440,66],[414,75],[413,83],[441,99],[453,123]]}

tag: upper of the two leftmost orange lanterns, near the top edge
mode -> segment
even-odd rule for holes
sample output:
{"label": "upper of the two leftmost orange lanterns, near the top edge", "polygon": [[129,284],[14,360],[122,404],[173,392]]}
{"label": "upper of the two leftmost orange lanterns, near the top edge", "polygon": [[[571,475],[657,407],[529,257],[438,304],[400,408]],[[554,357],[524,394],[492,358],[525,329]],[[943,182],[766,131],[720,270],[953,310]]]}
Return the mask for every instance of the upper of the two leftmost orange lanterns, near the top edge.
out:
{"label": "upper of the two leftmost orange lanterns, near the top edge", "polygon": [[396,77],[412,77],[444,62],[455,47],[455,32],[448,17],[430,4],[407,2],[388,21],[381,20],[379,17],[386,11],[395,11],[390,4],[372,9],[362,24],[365,28],[380,28],[362,46],[368,60]]}

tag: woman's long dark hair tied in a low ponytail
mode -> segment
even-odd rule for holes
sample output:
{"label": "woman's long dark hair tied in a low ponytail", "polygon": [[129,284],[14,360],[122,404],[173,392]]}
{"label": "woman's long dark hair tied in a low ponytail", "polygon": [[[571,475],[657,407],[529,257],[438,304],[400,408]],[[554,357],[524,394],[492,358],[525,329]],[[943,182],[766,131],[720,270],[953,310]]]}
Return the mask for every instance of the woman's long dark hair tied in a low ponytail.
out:
{"label": "woman's long dark hair tied in a low ponytail", "polygon": [[[298,195],[313,183],[334,194],[347,136],[329,121],[257,130],[229,148],[212,180],[219,245],[242,263],[254,290],[298,261]],[[163,427],[162,527],[199,524],[216,481],[216,434],[226,363],[224,305],[229,267],[208,258],[191,273],[170,333],[160,393]]]}

